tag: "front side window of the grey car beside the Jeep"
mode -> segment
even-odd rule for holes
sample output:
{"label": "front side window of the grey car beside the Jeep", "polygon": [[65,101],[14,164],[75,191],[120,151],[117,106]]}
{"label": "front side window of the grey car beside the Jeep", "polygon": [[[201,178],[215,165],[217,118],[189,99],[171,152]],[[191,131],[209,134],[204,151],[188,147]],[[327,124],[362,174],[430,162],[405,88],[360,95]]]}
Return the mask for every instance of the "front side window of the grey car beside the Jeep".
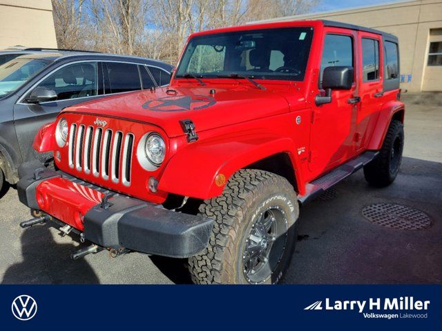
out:
{"label": "front side window of the grey car beside the Jeep", "polygon": [[93,97],[97,92],[97,62],[73,63],[59,68],[38,86],[54,90],[57,100]]}

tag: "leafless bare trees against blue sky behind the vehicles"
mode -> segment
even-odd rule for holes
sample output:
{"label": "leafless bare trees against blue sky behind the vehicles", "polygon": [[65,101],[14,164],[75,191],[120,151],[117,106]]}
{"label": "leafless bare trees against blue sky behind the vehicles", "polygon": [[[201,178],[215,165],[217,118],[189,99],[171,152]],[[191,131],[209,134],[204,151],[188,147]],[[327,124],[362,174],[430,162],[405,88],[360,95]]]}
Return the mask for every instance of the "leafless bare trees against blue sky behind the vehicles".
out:
{"label": "leafless bare trees against blue sky behind the vehicles", "polygon": [[176,63],[189,33],[300,14],[317,1],[52,0],[52,6],[59,47]]}

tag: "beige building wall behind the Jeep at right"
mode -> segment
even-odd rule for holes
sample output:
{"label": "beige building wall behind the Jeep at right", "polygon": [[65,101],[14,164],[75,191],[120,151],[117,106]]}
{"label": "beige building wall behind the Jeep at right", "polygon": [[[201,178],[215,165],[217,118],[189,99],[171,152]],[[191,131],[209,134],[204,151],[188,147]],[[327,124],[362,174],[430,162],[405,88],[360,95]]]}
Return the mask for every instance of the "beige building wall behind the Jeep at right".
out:
{"label": "beige building wall behind the Jeep at right", "polygon": [[[267,21],[307,19],[329,19],[395,34],[399,39],[401,74],[404,75],[401,88],[410,92],[442,91],[442,66],[427,66],[430,30],[442,28],[442,0],[401,1]],[[442,41],[440,35],[431,37],[433,41],[437,38]]]}

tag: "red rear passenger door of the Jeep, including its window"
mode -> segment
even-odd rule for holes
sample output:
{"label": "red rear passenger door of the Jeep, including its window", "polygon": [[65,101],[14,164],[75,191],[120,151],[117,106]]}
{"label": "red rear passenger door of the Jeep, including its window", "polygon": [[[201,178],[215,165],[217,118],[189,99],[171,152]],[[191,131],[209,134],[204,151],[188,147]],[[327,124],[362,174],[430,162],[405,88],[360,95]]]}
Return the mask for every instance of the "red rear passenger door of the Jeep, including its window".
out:
{"label": "red rear passenger door of the Jeep, including its window", "polygon": [[361,103],[358,105],[358,117],[354,143],[356,152],[361,152],[372,137],[376,119],[381,110],[383,97],[383,49],[381,35],[359,31],[358,43],[361,55],[358,59],[360,70],[358,72],[359,96]]}

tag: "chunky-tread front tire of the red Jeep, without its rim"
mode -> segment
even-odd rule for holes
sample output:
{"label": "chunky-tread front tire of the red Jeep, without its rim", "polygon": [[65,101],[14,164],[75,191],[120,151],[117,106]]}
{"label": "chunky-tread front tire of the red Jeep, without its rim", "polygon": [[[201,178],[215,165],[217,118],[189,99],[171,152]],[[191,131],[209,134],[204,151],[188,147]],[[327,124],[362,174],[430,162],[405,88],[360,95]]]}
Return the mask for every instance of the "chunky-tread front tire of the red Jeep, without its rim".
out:
{"label": "chunky-tread front tire of the red Jeep, without its rim", "polygon": [[[287,179],[262,170],[239,170],[233,174],[222,195],[204,201],[200,214],[215,220],[208,247],[189,259],[194,283],[254,283],[243,268],[243,250],[252,220],[268,206],[276,205],[287,216],[285,248],[268,279],[278,283],[285,274],[296,243],[299,206],[296,192]],[[282,237],[282,236],[281,236]]]}

